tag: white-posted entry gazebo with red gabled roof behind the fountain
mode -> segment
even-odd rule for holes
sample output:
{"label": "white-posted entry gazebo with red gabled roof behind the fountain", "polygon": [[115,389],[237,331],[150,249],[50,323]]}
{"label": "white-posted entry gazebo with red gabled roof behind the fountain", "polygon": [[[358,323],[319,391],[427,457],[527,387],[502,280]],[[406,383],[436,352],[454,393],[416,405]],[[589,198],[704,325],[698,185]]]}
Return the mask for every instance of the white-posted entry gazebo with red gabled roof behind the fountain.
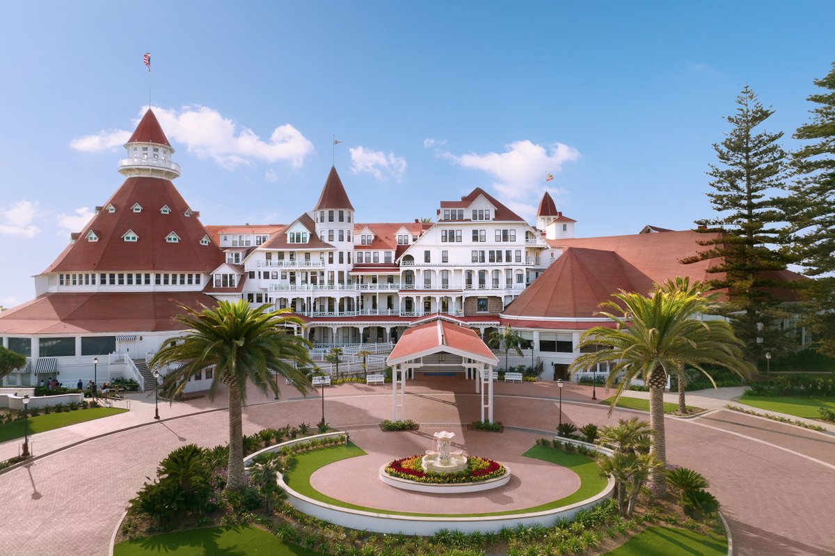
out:
{"label": "white-posted entry gazebo with red gabled roof behind the fountain", "polygon": [[414,378],[415,371],[419,370],[460,372],[468,379],[473,378],[475,391],[481,394],[481,420],[493,422],[493,368],[498,359],[478,334],[469,328],[441,318],[408,328],[386,363],[392,367],[392,421],[406,418],[406,379]]}

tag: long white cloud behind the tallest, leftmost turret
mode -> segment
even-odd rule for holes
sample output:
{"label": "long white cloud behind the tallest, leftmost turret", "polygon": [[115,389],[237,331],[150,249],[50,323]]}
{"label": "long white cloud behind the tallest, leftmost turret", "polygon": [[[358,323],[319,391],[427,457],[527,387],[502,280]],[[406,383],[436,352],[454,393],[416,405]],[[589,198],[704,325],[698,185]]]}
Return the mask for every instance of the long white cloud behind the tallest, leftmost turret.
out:
{"label": "long white cloud behind the tallest, leftmost turret", "polygon": [[[139,119],[142,114],[144,109]],[[252,164],[256,160],[286,161],[298,168],[313,152],[310,140],[291,124],[276,127],[270,138],[263,140],[251,129],[235,124],[207,106],[184,106],[180,110],[154,107],[154,114],[170,140],[185,144],[190,153],[200,158],[214,159],[225,169]],[[112,149],[114,145],[124,144],[129,136],[128,131],[102,131],[73,139],[70,146],[86,151]]]}

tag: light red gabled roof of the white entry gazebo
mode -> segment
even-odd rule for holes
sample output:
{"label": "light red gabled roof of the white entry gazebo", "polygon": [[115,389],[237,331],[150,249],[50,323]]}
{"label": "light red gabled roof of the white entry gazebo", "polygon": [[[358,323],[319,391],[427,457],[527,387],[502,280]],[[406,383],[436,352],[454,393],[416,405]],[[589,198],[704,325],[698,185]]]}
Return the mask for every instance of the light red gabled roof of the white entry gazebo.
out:
{"label": "light red gabled roof of the white entry gazebo", "polygon": [[391,355],[387,365],[397,365],[416,357],[441,351],[470,357],[475,361],[495,365],[498,358],[472,329],[438,319],[413,328],[407,328]]}

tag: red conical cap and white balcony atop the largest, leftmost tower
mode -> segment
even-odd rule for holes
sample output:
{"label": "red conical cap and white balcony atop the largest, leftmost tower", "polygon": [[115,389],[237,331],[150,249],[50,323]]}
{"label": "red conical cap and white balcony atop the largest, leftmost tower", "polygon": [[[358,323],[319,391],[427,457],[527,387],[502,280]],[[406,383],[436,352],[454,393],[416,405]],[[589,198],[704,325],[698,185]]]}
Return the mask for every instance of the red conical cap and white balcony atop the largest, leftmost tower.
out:
{"label": "red conical cap and white balcony atop the largest, leftmost tower", "polygon": [[165,137],[153,110],[145,112],[124,148],[128,156],[119,160],[120,174],[162,179],[180,177],[180,164],[171,161],[174,148]]}

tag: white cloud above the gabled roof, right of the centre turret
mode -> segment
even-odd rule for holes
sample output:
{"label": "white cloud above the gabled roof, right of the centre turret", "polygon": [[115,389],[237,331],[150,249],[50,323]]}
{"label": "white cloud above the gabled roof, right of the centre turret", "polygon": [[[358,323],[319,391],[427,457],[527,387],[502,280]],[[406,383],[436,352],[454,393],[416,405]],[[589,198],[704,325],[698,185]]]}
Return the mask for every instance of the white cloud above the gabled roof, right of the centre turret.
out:
{"label": "white cloud above the gabled roof, right of the centre turret", "polygon": [[[478,169],[492,175],[493,189],[498,193],[499,200],[523,217],[535,214],[532,203],[538,203],[543,194],[545,174],[557,174],[563,164],[574,162],[580,156],[577,149],[567,144],[543,146],[528,139],[505,145],[504,153],[439,154],[463,168]],[[562,193],[559,189],[550,191]]]}

